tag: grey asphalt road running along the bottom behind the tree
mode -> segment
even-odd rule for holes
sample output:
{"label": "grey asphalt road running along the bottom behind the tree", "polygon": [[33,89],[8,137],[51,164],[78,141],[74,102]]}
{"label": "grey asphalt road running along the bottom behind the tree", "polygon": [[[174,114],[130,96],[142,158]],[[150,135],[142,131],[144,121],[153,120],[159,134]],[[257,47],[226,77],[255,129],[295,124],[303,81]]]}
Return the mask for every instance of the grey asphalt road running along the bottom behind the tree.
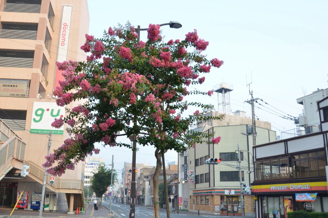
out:
{"label": "grey asphalt road running along the bottom behind the tree", "polygon": [[[103,205],[106,207],[109,207],[109,202],[103,202]],[[153,210],[151,209],[152,207],[145,207],[145,206],[136,206],[135,208],[135,217],[137,218],[142,218],[142,217],[153,217]],[[115,211],[119,217],[129,217],[129,212],[130,212],[130,205],[125,205],[125,204],[116,204],[112,203],[112,211]],[[186,214],[189,213],[189,214]],[[160,211],[160,217],[161,218],[166,218],[166,211]],[[181,211],[179,214],[176,213],[171,213],[171,218],[196,218],[196,217],[234,217],[238,218],[239,216],[219,216],[219,215],[206,215],[206,214],[201,214],[198,215],[197,213],[191,213],[191,212],[185,212]],[[241,216],[240,216],[241,217]],[[251,218],[250,216],[247,216],[248,218]]]}

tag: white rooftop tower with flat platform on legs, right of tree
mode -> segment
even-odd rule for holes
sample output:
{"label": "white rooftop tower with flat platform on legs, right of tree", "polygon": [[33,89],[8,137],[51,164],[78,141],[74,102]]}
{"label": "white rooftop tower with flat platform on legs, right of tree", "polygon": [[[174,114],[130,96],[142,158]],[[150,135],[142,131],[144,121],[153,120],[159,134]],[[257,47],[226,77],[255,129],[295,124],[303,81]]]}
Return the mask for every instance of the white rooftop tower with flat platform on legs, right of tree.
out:
{"label": "white rooftop tower with flat platform on legs, right of tree", "polygon": [[[233,90],[233,85],[224,82],[214,86],[214,92],[217,92],[218,111],[220,112],[220,105],[222,105],[222,114],[230,114],[230,92]],[[219,93],[221,93],[221,99]]]}

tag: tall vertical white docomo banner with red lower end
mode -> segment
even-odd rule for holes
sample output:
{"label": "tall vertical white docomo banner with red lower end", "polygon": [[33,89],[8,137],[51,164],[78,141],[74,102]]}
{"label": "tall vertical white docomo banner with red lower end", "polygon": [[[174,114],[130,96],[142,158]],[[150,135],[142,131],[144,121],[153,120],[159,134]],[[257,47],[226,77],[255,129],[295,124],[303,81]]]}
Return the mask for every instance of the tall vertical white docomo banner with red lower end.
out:
{"label": "tall vertical white docomo banner with red lower end", "polygon": [[[61,24],[60,24],[60,32],[59,32],[59,39],[58,39],[58,52],[57,52],[58,62],[64,62],[67,60],[72,10],[73,10],[72,5],[63,5],[63,13],[61,14]],[[59,71],[58,67],[56,67],[55,83],[53,89],[59,86],[59,81],[62,80],[64,80],[62,71]]]}

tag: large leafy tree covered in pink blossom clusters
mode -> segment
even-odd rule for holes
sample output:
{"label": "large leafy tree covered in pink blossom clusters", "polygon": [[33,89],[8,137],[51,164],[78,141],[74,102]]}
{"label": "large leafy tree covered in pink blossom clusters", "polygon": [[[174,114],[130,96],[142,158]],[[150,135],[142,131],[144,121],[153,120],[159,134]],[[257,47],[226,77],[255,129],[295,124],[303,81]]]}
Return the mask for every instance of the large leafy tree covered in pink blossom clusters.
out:
{"label": "large leafy tree covered in pink blossom clusters", "polygon": [[[49,167],[48,172],[60,176],[66,169],[73,169],[74,163],[99,152],[95,143],[132,148],[118,138],[136,135],[139,145],[156,148],[159,175],[160,157],[167,150],[181,152],[195,143],[208,143],[204,140],[208,134],[193,132],[190,126],[221,117],[203,117],[202,113],[212,110],[212,105],[183,99],[187,95],[213,94],[213,90],[188,91],[190,84],[203,83],[211,68],[223,64],[201,54],[208,45],[198,38],[196,30],[186,34],[184,40],[163,41],[159,25],[149,25],[146,42],[138,42],[130,24],[109,28],[99,39],[86,35],[81,49],[89,54],[87,61],[57,63],[65,71],[65,80],[54,92],[57,104],[84,103],[67,109],[66,117],[53,122],[56,127],[69,125],[67,130],[72,137],[46,157],[44,166]],[[191,105],[201,112],[187,112]],[[219,141],[217,138],[212,142]],[[154,201],[158,202],[156,190]]]}

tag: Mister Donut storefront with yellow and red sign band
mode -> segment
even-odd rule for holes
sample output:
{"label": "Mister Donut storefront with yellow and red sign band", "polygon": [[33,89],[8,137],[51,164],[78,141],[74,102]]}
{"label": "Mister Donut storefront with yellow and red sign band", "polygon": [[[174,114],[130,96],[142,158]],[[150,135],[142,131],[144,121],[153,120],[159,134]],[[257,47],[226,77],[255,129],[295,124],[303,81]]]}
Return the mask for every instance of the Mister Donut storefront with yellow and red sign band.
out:
{"label": "Mister Donut storefront with yellow and red sign band", "polygon": [[[253,185],[257,218],[286,218],[292,211],[328,211],[327,182]],[[317,193],[317,194],[316,194]]]}

